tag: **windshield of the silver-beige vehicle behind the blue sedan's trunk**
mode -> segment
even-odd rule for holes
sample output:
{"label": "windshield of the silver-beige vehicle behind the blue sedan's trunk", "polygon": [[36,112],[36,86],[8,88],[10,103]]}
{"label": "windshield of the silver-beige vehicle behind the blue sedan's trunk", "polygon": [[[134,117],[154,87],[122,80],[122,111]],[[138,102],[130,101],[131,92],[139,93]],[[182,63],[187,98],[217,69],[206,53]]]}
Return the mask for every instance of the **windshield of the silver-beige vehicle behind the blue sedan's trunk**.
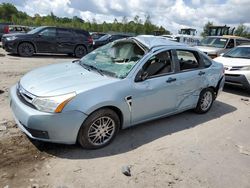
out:
{"label": "windshield of the silver-beige vehicle behind the blue sedan's trunk", "polygon": [[201,40],[201,45],[215,48],[224,48],[227,44],[227,41],[227,38],[207,37]]}

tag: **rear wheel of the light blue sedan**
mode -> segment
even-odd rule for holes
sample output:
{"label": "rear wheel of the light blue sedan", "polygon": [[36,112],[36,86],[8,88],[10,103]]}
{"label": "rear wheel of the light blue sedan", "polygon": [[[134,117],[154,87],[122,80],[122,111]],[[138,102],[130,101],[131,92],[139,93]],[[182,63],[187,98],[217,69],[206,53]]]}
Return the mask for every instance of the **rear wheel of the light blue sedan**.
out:
{"label": "rear wheel of the light blue sedan", "polygon": [[203,89],[194,111],[198,114],[204,114],[210,110],[215,99],[214,90],[211,88]]}

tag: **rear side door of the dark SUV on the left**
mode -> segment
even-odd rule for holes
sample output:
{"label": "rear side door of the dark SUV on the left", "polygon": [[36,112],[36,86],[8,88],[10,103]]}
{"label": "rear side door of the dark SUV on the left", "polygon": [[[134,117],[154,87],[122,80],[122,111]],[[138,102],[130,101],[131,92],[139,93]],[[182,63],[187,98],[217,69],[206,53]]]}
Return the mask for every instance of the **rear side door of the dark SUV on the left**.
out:
{"label": "rear side door of the dark SUV on the left", "polygon": [[58,53],[73,53],[76,45],[75,32],[71,29],[57,29],[56,46]]}

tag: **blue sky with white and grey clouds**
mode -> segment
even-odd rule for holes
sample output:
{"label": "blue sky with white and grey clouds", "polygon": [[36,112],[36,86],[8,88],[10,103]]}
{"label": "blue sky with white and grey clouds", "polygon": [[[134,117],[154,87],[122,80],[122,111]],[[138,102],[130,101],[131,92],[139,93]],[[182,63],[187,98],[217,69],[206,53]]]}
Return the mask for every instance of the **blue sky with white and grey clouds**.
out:
{"label": "blue sky with white and grey clouds", "polygon": [[145,20],[163,26],[172,33],[185,27],[198,32],[212,21],[214,25],[235,27],[240,23],[250,27],[250,0],[0,0],[12,3],[18,10],[33,16],[53,12],[59,17],[78,16],[98,23],[128,20],[138,15]]}

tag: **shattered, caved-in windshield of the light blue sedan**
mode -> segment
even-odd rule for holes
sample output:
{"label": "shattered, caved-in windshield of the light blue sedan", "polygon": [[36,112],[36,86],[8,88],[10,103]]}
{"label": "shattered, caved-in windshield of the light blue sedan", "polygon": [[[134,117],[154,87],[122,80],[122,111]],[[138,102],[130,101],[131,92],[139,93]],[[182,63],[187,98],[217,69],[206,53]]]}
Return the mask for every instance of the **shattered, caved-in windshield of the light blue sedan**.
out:
{"label": "shattered, caved-in windshield of the light blue sedan", "polygon": [[132,40],[109,43],[97,48],[80,60],[84,67],[92,67],[104,75],[125,78],[142,58],[144,51]]}

